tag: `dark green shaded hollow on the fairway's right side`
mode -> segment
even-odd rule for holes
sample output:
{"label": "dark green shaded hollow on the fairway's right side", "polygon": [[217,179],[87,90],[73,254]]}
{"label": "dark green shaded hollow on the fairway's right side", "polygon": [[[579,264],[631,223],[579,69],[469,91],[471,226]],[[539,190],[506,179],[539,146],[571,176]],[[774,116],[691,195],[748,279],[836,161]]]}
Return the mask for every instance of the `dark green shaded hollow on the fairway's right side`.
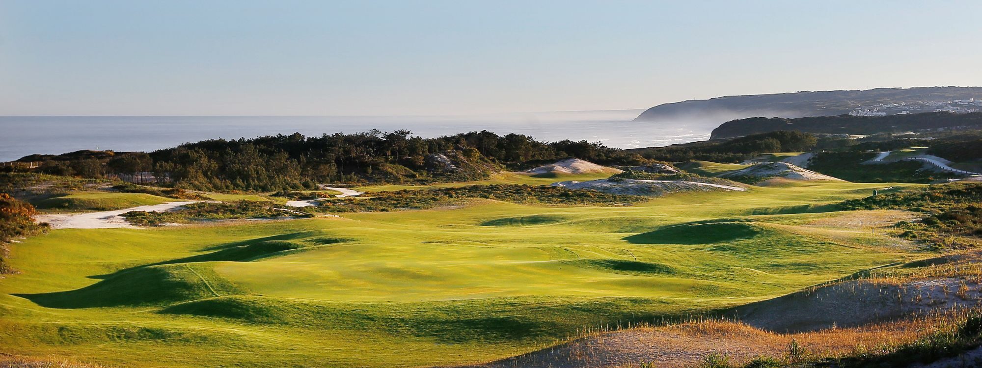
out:
{"label": "dark green shaded hollow on the fairway's right side", "polygon": [[634,244],[708,244],[757,237],[760,226],[746,222],[687,223],[641,233],[625,240]]}

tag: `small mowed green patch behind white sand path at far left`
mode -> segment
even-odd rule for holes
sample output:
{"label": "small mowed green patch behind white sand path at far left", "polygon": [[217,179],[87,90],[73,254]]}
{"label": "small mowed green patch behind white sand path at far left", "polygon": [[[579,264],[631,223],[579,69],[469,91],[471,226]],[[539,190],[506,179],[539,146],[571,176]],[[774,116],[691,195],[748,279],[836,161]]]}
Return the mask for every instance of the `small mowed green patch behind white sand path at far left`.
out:
{"label": "small mowed green patch behind white sand path at far left", "polygon": [[40,210],[109,211],[160,204],[177,199],[144,193],[80,191],[31,201]]}

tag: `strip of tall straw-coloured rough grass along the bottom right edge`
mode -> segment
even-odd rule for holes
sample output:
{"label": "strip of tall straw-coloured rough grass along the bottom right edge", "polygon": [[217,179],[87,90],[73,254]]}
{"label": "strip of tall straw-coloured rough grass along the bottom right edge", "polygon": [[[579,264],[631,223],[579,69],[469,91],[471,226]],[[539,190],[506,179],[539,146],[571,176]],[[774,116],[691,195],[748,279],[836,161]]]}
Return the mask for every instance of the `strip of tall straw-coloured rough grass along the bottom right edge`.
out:
{"label": "strip of tall straw-coloured rough grass along the bottom right edge", "polygon": [[[584,331],[573,342],[514,358],[478,364],[474,368],[617,367],[617,368],[767,368],[905,366],[889,356],[926,343],[910,361],[932,361],[971,346],[977,335],[961,332],[974,323],[966,313],[910,318],[860,328],[782,334],[746,324],[694,319],[672,324],[641,324],[627,329]],[[949,341],[956,336],[954,341]],[[957,341],[960,340],[960,343]],[[923,354],[931,347],[941,351]],[[950,348],[950,349],[946,349]],[[843,365],[831,365],[830,363]],[[891,363],[891,364],[887,364]],[[883,365],[874,365],[883,364]]]}

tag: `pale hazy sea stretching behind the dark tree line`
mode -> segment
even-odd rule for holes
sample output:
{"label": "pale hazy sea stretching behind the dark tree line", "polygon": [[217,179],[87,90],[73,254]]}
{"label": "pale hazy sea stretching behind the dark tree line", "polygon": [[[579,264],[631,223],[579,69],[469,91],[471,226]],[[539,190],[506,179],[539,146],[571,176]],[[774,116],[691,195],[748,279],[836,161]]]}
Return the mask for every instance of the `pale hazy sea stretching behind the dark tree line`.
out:
{"label": "pale hazy sea stretching behind the dark tree line", "polygon": [[210,138],[251,138],[406,129],[433,137],[465,131],[528,134],[539,140],[600,141],[616,148],[705,140],[716,121],[632,122],[643,110],[479,116],[0,117],[0,161],[80,149],[152,151]]}

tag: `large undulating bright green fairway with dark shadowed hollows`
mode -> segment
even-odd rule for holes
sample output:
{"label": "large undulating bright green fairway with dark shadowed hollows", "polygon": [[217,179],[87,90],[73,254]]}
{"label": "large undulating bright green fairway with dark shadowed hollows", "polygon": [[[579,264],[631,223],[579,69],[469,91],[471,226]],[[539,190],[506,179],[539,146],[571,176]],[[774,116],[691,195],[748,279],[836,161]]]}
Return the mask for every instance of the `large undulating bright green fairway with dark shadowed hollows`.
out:
{"label": "large undulating bright green fairway with dark shadowed hollows", "polygon": [[492,360],[919,258],[868,229],[810,225],[883,186],[57,230],[14,247],[0,351],[153,367]]}

